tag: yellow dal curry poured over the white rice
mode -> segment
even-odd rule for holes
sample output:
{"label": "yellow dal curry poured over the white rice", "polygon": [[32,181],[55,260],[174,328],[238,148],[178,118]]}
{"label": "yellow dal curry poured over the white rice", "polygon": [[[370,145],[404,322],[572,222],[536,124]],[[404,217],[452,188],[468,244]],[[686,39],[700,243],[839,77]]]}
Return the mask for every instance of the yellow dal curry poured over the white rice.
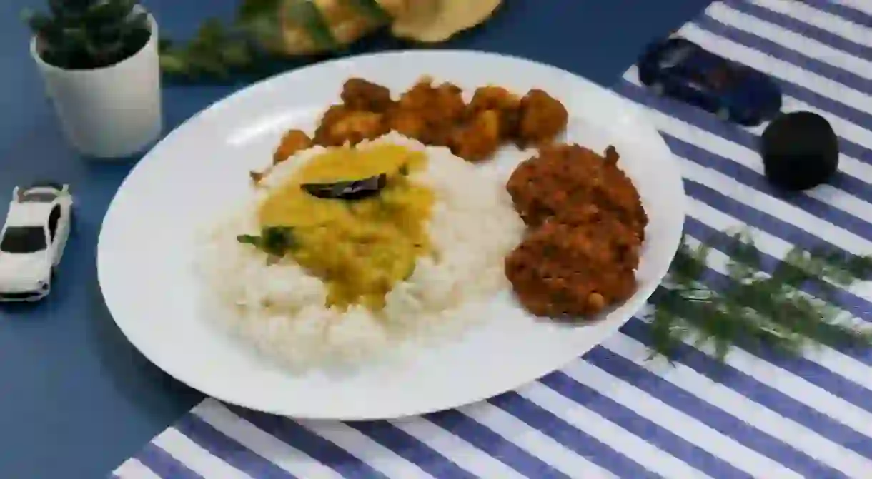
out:
{"label": "yellow dal curry poured over the white rice", "polygon": [[[418,257],[432,253],[427,225],[435,197],[409,178],[425,167],[423,152],[400,145],[333,148],[270,192],[258,220],[262,227],[293,228],[290,257],[324,280],[327,306],[361,304],[378,311],[394,284],[412,274]],[[301,187],[381,173],[387,175],[385,187],[367,199],[321,199]]]}

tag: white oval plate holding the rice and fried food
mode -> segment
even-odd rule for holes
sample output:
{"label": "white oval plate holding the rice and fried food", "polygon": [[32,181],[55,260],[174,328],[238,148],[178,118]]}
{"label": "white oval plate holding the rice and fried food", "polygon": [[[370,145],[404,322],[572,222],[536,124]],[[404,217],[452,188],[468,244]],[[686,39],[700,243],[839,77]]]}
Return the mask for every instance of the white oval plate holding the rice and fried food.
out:
{"label": "white oval plate holding the rice and fried food", "polygon": [[[541,88],[570,112],[567,139],[621,165],[650,217],[637,293],[586,326],[536,320],[506,292],[493,315],[457,341],[422,348],[408,361],[339,377],[294,375],[229,337],[198,306],[191,266],[194,233],[249,196],[252,169],[269,165],[282,132],[311,131],[342,84],[362,77],[395,93],[422,75],[473,91],[500,84],[521,94]],[[508,178],[529,154],[501,152],[482,167]],[[99,236],[99,284],[121,331],[158,367],[221,401],[278,415],[384,419],[487,399],[562,368],[644,306],[663,279],[685,217],[678,162],[627,100],[567,71],[473,51],[402,51],[349,57],[269,78],[221,100],[156,145],[112,199]]]}

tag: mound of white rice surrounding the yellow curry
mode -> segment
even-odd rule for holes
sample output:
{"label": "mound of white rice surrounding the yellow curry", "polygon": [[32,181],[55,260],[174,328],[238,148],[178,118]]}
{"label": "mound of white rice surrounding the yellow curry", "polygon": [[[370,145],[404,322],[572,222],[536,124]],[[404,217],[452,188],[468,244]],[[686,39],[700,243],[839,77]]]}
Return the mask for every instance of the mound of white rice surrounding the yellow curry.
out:
{"label": "mound of white rice surrounding the yellow curry", "polygon": [[[483,302],[508,286],[503,259],[521,241],[524,224],[501,180],[442,147],[389,133],[367,145],[389,142],[424,151],[426,171],[413,180],[436,193],[429,225],[439,262],[419,258],[412,276],[388,293],[382,316],[364,307],[324,307],[326,287],[290,260],[266,265],[263,253],[236,236],[256,233],[258,196],[240,213],[214,226],[198,248],[198,270],[226,314],[225,326],[284,366],[304,370],[384,358],[419,341],[445,341],[477,320]],[[261,185],[281,185],[323,147],[276,165]],[[262,307],[269,304],[270,307]]]}

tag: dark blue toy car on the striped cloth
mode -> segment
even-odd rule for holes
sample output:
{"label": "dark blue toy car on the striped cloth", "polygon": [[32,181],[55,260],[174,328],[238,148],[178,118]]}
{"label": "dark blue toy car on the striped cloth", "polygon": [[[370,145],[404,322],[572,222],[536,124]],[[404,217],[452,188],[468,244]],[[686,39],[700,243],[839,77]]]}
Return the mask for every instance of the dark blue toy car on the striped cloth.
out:
{"label": "dark blue toy car on the striped cloth", "polygon": [[651,44],[638,62],[639,81],[739,125],[756,126],[781,110],[772,78],[682,37]]}

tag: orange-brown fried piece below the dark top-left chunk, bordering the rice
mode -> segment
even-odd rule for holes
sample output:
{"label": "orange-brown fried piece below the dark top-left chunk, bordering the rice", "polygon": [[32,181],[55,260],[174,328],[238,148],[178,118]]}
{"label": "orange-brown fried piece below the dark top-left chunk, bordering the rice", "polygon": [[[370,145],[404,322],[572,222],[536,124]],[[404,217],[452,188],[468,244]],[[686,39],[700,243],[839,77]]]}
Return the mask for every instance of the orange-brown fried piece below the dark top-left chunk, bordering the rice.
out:
{"label": "orange-brown fried piece below the dark top-left chunk, bordering the rice", "polygon": [[333,105],[321,118],[315,132],[315,143],[323,146],[357,145],[364,139],[378,138],[387,132],[383,114]]}

